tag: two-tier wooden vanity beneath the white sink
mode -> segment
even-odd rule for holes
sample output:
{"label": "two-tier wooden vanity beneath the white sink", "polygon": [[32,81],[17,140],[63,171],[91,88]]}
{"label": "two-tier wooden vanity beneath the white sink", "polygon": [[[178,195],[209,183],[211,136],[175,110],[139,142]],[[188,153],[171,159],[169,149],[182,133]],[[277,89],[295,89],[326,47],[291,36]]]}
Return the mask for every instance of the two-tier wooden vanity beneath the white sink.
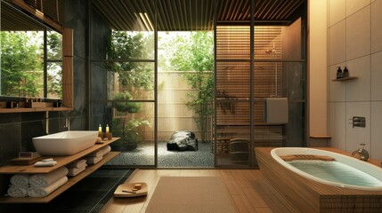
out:
{"label": "two-tier wooden vanity beneath the white sink", "polygon": [[109,162],[112,158],[117,156],[119,152],[110,152],[103,156],[102,161],[98,162],[94,165],[89,165],[86,169],[79,173],[75,177],[68,177],[69,180],[65,185],[61,185],[58,189],[56,189],[53,193],[49,194],[46,197],[42,198],[34,198],[34,197],[24,197],[24,198],[14,198],[4,196],[7,191],[9,185],[9,179],[14,174],[44,174],[49,173],[53,170],[57,170],[70,162],[74,162],[77,159],[84,157],[87,154],[91,154],[94,151],[102,148],[103,146],[108,146],[119,138],[112,138],[110,140],[105,140],[102,144],[95,144],[94,146],[87,148],[77,154],[69,155],[69,156],[43,156],[43,159],[53,158],[54,161],[57,162],[57,165],[53,167],[35,167],[34,164],[30,165],[6,165],[4,167],[0,167],[0,203],[46,203],[52,201],[55,197],[60,195],[69,189],[72,185],[77,184],[78,181],[92,174],[95,170],[98,170],[104,163]]}

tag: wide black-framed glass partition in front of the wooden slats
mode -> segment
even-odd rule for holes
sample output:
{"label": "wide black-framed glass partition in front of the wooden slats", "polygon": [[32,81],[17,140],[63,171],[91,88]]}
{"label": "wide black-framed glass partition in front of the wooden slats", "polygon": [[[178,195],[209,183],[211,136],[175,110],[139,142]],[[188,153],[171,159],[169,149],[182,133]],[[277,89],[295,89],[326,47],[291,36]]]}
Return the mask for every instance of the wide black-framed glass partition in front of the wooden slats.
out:
{"label": "wide black-framed glass partition in front of the wooden slats", "polygon": [[[304,4],[297,10],[300,18],[295,14],[280,21],[272,20],[272,15],[264,19],[268,4],[258,3],[220,0],[217,4],[214,151],[218,167],[256,167],[255,147],[305,146]],[[233,9],[236,20],[219,10],[224,5]],[[266,120],[267,99],[283,101],[288,107],[286,121]]]}

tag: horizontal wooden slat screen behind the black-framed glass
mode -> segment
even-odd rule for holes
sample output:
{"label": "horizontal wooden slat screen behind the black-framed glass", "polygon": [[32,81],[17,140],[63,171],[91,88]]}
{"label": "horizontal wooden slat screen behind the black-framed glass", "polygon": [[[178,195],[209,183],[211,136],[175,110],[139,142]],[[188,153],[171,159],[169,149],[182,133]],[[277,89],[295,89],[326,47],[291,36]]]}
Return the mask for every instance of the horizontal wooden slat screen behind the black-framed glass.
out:
{"label": "horizontal wooden slat screen behind the black-framed glass", "polygon": [[217,154],[230,153],[230,139],[249,138],[251,92],[255,94],[255,146],[282,146],[282,126],[264,123],[264,98],[282,96],[281,32],[282,27],[255,27],[254,91],[250,91],[250,28],[217,26]]}

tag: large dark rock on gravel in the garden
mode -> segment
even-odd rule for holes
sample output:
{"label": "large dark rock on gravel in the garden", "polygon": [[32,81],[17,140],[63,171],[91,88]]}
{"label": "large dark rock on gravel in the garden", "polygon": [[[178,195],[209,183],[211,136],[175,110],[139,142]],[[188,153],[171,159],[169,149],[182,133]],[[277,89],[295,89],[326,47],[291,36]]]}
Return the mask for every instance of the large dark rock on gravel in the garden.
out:
{"label": "large dark rock on gravel in the garden", "polygon": [[198,139],[191,131],[175,131],[167,142],[167,150],[197,151]]}

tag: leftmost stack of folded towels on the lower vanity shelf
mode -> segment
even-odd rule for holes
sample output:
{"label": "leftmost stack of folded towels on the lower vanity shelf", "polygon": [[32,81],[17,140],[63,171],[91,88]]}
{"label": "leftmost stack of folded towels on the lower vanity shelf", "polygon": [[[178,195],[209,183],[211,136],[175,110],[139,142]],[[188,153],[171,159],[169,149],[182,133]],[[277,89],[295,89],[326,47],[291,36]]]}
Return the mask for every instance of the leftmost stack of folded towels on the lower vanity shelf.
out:
{"label": "leftmost stack of folded towels on the lower vanity shelf", "polygon": [[26,197],[28,196],[28,175],[13,175],[11,177],[11,185],[8,188],[8,195],[11,197]]}

